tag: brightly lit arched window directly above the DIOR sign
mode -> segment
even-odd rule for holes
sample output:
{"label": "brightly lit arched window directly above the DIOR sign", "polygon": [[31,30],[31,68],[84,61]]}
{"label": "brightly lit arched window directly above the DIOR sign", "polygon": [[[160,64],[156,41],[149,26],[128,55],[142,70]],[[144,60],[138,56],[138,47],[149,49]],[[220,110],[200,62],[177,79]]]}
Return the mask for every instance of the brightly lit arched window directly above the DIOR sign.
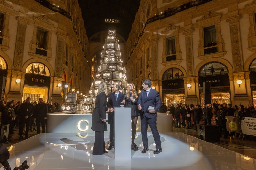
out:
{"label": "brightly lit arched window directly above the DIOR sign", "polygon": [[26,73],[50,76],[49,69],[43,63],[33,62],[26,68]]}

